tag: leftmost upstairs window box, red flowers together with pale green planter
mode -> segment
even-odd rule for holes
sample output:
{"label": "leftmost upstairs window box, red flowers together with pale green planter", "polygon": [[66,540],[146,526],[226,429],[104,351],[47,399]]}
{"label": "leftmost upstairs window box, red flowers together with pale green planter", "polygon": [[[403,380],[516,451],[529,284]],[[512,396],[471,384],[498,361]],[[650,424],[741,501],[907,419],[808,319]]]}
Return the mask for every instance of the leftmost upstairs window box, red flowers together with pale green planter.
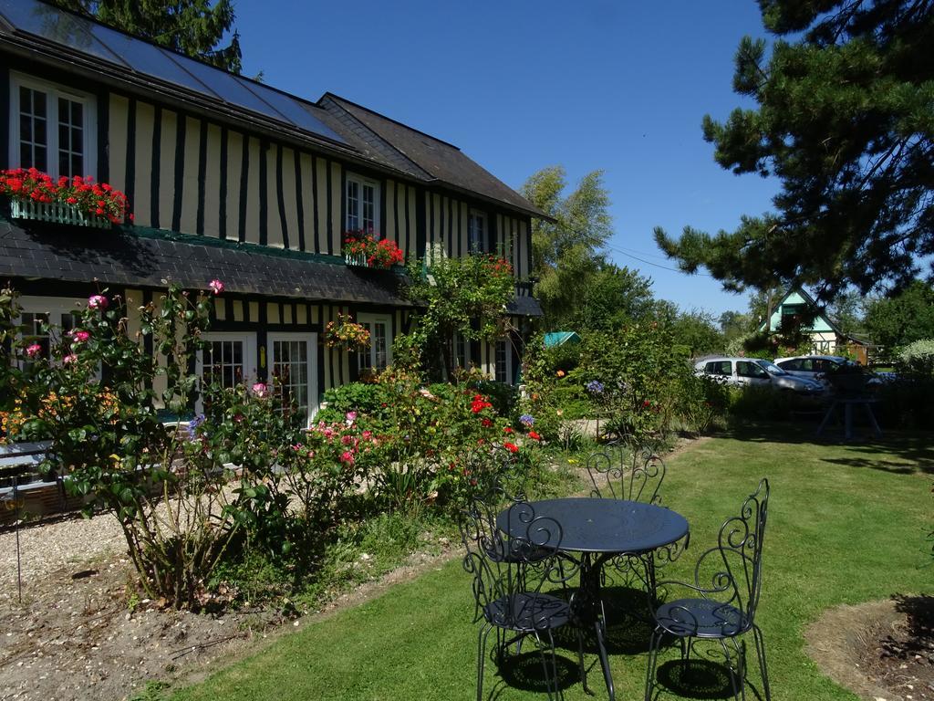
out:
{"label": "leftmost upstairs window box, red flowers together with pale green planter", "polygon": [[0,171],[0,194],[14,219],[108,228],[133,222],[126,195],[91,178],[52,179],[35,168]]}

